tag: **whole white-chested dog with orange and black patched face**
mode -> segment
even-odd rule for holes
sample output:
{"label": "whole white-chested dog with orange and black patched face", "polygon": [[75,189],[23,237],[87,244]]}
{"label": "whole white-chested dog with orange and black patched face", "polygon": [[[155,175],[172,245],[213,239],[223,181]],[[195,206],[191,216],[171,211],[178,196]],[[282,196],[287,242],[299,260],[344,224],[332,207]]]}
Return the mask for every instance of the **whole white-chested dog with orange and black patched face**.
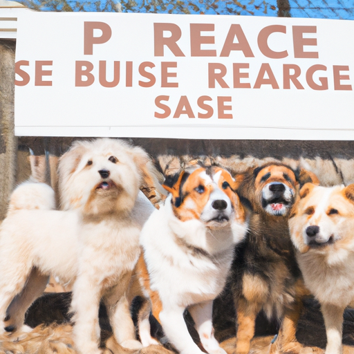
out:
{"label": "whole white-chested dog with orange and black patched face", "polygon": [[[235,181],[219,167],[196,167],[164,187],[170,192],[165,205],[153,212],[140,236],[144,254],[138,274],[152,313],[180,353],[203,353],[188,333],[186,308],[205,351],[225,353],[214,337],[212,303],[225,285],[234,245],[248,227]],[[149,339],[146,317],[141,318],[142,344],[156,343]]]}

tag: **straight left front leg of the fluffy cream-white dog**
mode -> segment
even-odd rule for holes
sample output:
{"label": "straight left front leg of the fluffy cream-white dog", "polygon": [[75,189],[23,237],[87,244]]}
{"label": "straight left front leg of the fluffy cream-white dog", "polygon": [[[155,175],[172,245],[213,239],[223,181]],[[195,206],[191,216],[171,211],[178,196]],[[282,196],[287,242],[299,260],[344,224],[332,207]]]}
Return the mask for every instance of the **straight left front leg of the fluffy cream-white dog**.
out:
{"label": "straight left front leg of the fluffy cream-white dog", "polygon": [[73,337],[75,348],[81,354],[101,354],[98,349],[100,325],[98,308],[100,307],[101,288],[94,283],[91,274],[80,274],[73,286],[71,310],[75,312]]}

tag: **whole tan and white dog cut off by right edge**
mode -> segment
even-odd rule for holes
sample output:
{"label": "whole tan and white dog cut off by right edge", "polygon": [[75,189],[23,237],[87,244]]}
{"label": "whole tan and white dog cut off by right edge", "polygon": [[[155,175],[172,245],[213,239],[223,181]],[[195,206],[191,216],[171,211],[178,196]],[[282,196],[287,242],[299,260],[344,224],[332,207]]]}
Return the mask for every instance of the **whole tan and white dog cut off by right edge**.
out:
{"label": "whole tan and white dog cut off by right edge", "polygon": [[354,184],[306,183],[289,220],[306,287],[321,304],[326,354],[342,353],[343,312],[354,306]]}

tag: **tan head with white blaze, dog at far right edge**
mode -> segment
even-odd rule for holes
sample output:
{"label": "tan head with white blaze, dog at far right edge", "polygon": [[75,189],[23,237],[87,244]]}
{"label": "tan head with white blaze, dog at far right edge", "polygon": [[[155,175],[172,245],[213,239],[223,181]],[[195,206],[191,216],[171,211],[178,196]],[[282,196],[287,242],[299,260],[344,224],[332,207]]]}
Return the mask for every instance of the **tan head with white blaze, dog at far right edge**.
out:
{"label": "tan head with white blaze, dog at far right edge", "polygon": [[292,242],[301,253],[326,252],[353,243],[354,184],[319,187],[306,183],[292,210],[289,227]]}

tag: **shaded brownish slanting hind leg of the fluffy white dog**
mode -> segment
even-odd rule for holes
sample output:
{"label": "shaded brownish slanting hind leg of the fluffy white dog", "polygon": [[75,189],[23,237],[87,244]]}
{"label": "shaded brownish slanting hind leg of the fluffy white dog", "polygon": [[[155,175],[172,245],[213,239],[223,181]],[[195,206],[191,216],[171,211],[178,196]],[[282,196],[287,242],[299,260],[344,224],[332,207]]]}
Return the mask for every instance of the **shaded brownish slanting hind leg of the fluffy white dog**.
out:
{"label": "shaded brownish slanting hind leg of the fluffy white dog", "polygon": [[[27,309],[43,292],[48,283],[48,275],[33,268],[22,291],[11,301],[6,311],[6,330],[24,330],[24,319]],[[28,327],[29,328],[29,327]],[[26,328],[27,329],[27,328]]]}

